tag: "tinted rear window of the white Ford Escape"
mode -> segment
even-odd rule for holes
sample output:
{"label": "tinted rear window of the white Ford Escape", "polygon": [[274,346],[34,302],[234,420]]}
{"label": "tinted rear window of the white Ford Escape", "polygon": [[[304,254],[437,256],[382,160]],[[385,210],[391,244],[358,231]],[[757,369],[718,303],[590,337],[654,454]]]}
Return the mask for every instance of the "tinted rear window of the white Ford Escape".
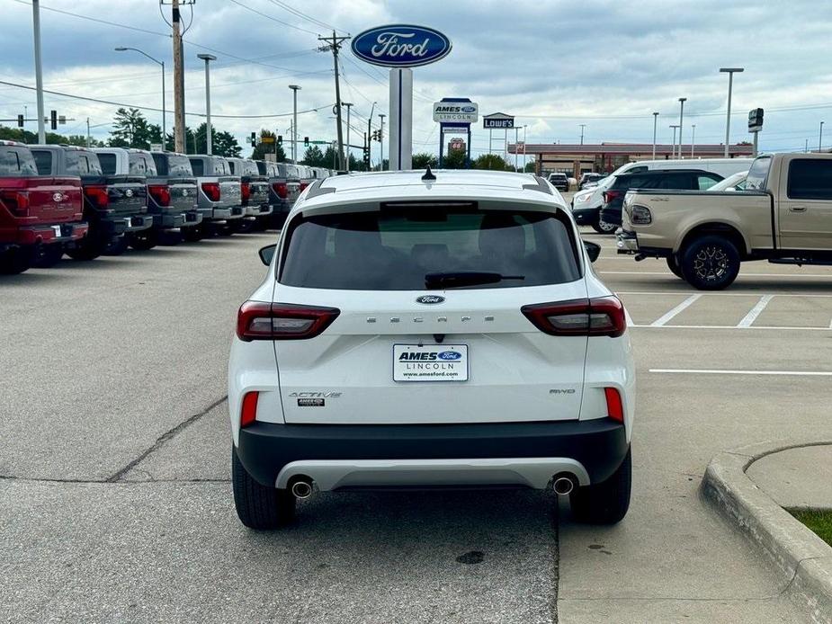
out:
{"label": "tinted rear window of the white Ford Escape", "polygon": [[465,288],[516,288],[580,278],[565,218],[458,207],[309,217],[289,233],[280,282],[335,290],[425,290],[432,272],[522,275]]}

